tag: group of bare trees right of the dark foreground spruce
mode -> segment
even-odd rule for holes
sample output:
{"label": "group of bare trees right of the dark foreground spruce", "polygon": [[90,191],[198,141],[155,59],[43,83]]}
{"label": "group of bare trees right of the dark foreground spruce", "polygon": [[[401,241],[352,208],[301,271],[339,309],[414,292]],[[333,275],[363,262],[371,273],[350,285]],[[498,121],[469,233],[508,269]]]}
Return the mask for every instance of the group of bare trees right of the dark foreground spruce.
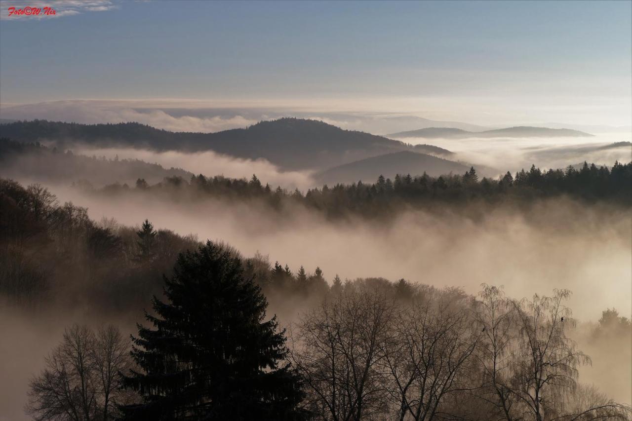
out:
{"label": "group of bare trees right of the dark foreground spruce", "polygon": [[349,284],[301,319],[291,358],[319,418],[629,419],[628,406],[578,382],[590,360],[566,334],[569,291],[396,291]]}

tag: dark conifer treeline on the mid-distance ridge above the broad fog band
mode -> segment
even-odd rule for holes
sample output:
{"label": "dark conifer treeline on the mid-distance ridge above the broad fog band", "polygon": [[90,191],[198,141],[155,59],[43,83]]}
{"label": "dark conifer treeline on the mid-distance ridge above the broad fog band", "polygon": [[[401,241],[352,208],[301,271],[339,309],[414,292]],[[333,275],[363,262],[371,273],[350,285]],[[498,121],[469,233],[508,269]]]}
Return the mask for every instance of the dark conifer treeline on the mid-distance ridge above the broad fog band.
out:
{"label": "dark conifer treeline on the mid-distance ridge above the broad fog band", "polygon": [[507,172],[497,179],[479,178],[475,168],[465,174],[448,174],[439,177],[397,175],[394,180],[379,176],[372,184],[359,181],[351,185],[327,185],[303,193],[298,189],[288,191],[280,186],[263,185],[256,175],[250,180],[224,176],[205,177],[200,174],[190,180],[180,177],[165,178],[161,183],[150,185],[144,179],[135,186],[114,185],[94,190],[95,193],[125,194],[145,193],[166,198],[200,197],[228,198],[231,200],[264,200],[274,209],[292,204],[305,205],[309,209],[324,212],[328,217],[360,214],[379,217],[407,207],[432,207],[434,205],[465,204],[482,200],[490,204],[501,202],[528,203],[537,198],[568,197],[582,200],[605,200],[621,205],[632,203],[632,162],[615,162],[611,168],[588,165],[581,168],[541,171],[535,165],[511,174]]}

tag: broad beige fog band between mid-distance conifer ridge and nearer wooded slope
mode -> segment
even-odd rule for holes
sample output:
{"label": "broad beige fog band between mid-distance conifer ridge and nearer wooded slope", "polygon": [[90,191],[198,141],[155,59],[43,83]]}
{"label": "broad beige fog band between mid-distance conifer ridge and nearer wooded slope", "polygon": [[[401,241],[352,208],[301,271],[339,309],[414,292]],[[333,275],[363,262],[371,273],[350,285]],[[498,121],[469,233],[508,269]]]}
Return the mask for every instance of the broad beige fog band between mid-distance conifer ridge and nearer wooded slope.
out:
{"label": "broad beige fog band between mid-distance conifer ridge and nearer wooded slope", "polygon": [[511,296],[569,288],[579,319],[599,319],[612,306],[622,314],[632,312],[632,221],[617,207],[585,207],[561,198],[537,202],[529,210],[509,205],[483,213],[473,209],[472,219],[462,209],[458,214],[444,209],[441,214],[410,210],[388,223],[336,223],[302,207],[277,214],[252,202],[175,203],[152,195],[112,198],[71,188],[52,191],[62,202],[87,206],[97,221],[113,217],[138,225],[149,218],[157,229],[227,241],[246,256],[269,254],[272,262],[288,263],[291,269],[320,266],[327,279],[335,274],[406,278],[463,286],[470,293],[484,282],[506,285]]}

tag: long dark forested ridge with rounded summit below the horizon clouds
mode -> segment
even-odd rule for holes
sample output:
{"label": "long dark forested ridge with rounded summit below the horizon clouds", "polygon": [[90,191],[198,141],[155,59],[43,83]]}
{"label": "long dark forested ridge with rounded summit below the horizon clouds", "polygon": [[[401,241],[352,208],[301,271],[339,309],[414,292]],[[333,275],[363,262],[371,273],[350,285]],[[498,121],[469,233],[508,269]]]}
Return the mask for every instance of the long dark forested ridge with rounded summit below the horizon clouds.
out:
{"label": "long dark forested ridge with rounded summit below the horizon clouds", "polygon": [[248,128],[189,133],[159,130],[139,123],[83,125],[45,120],[0,125],[0,137],[20,142],[83,142],[99,147],[148,147],[155,150],[214,150],[221,154],[265,158],[282,169],[325,169],[399,150],[410,145],[362,131],[343,130],[322,121],[281,118]]}

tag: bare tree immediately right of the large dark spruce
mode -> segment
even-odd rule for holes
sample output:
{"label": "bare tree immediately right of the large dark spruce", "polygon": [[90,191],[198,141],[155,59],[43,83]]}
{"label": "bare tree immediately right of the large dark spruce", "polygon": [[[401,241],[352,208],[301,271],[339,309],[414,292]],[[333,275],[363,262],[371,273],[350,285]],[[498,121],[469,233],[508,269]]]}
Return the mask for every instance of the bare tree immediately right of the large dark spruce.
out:
{"label": "bare tree immediately right of the large dark spruce", "polygon": [[394,305],[379,293],[344,292],[300,323],[291,358],[323,419],[372,419],[387,410],[382,342]]}

